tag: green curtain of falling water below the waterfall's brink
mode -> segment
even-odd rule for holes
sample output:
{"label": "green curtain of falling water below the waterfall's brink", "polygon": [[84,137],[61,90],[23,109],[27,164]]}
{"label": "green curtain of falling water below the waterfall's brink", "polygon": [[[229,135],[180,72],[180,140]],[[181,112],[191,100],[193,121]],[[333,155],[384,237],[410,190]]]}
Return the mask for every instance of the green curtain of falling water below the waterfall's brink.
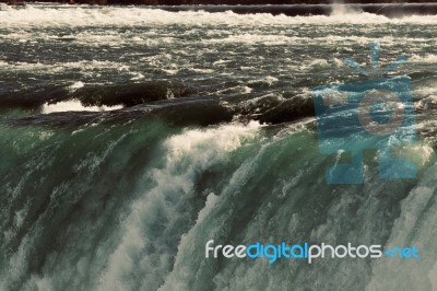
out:
{"label": "green curtain of falling water below the waterfall's brink", "polygon": [[[263,96],[246,105],[273,101],[284,102]],[[0,256],[8,258],[0,260],[2,290],[430,286],[436,166],[427,168],[435,158],[426,144],[411,153],[423,160],[417,186],[380,181],[375,164],[366,167],[366,187],[327,186],[332,160],[320,154],[317,133],[299,124],[180,129],[142,116],[67,130],[1,128],[0,149],[8,153],[1,199],[13,201],[0,211]],[[428,257],[390,265],[327,258],[309,268],[285,259],[205,259],[209,240],[417,243]]]}

